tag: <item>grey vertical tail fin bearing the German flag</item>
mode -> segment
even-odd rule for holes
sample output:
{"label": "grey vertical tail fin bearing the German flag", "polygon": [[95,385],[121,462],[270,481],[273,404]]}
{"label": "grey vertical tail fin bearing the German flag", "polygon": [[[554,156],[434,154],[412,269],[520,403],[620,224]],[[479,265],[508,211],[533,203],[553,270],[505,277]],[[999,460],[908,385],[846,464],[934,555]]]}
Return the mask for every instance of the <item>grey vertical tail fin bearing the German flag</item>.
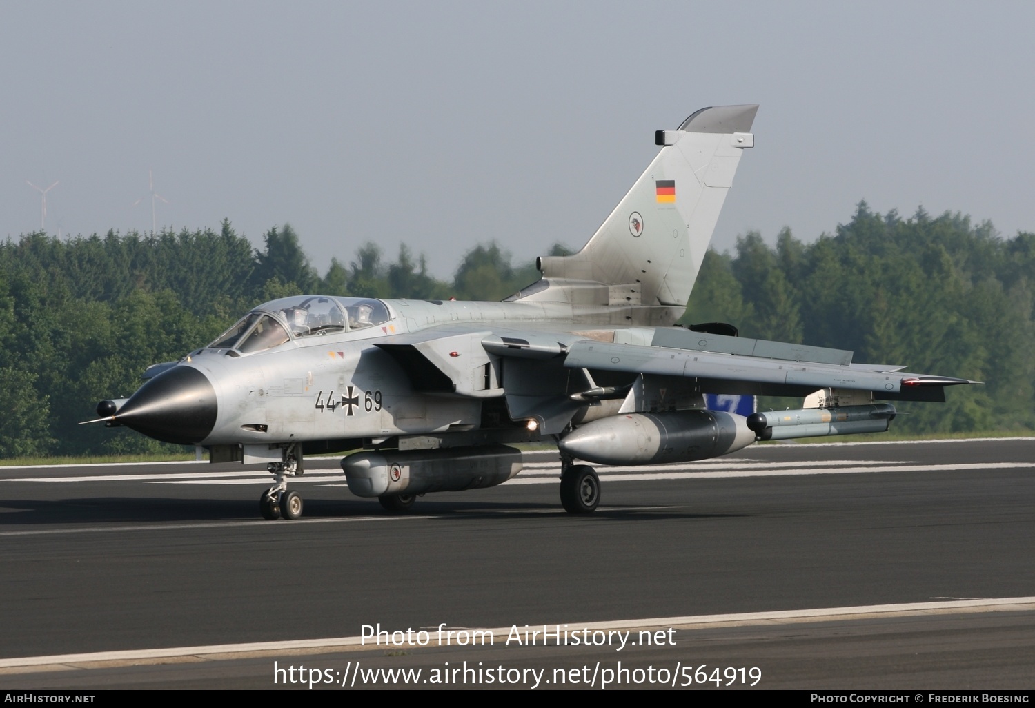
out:
{"label": "grey vertical tail fin bearing the German flag", "polygon": [[758,110],[705,108],[658,130],[661,151],[583,249],[537,259],[543,278],[628,285],[644,305],[685,307]]}

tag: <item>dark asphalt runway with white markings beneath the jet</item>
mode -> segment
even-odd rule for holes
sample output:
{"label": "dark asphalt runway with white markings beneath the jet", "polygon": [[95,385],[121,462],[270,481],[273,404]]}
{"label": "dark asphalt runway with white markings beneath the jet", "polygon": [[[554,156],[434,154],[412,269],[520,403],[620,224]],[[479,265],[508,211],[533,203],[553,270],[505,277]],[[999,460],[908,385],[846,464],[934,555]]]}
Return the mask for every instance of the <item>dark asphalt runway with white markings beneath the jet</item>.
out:
{"label": "dark asphalt runway with white markings beneath the jet", "polygon": [[[1035,439],[598,468],[590,517],[560,509],[549,458],[407,515],[307,461],[295,522],[258,518],[269,475],[240,465],[2,468],[0,687],[307,689],[274,669],[326,687],[377,682],[357,662],[426,681],[464,661],[478,687],[536,671],[600,687],[609,670],[614,687],[618,661],[644,672],[623,687],[683,686],[687,667],[694,687],[748,687],[751,669],[768,688],[1035,685]],[[359,645],[378,624],[430,642]],[[631,639],[504,644],[544,624]],[[495,628],[494,646],[440,646],[440,625]]]}

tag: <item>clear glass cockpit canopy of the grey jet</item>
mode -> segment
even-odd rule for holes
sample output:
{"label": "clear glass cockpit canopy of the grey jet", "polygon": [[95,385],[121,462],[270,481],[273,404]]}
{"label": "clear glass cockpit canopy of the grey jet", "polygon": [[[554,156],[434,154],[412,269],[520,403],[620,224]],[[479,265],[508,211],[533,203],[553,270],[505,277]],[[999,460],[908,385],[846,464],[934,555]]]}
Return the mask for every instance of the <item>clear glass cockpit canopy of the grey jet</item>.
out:
{"label": "clear glass cockpit canopy of the grey jet", "polygon": [[381,300],[326,295],[283,297],[253,309],[209,348],[236,349],[246,354],[276,347],[291,338],[350,332],[389,319],[388,307]]}

